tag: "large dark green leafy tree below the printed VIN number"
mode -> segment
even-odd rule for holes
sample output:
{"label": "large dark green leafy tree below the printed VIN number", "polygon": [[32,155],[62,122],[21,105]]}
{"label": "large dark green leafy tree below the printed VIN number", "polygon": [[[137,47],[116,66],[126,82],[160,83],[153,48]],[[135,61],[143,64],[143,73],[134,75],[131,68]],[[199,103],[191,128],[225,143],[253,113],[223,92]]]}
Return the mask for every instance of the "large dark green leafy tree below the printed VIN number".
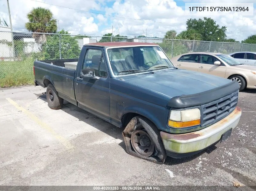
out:
{"label": "large dark green leafy tree below the printed VIN number", "polygon": [[187,22],[187,30],[194,29],[197,30],[201,35],[201,39],[205,41],[224,41],[227,37],[226,31],[227,27],[220,27],[216,24],[211,18],[204,19],[188,19]]}

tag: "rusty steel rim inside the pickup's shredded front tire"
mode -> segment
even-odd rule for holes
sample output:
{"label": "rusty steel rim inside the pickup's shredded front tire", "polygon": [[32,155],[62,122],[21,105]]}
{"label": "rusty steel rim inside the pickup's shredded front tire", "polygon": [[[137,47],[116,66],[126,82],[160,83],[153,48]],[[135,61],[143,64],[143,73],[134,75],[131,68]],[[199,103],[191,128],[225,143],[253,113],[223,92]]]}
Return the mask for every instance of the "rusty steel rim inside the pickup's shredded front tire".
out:
{"label": "rusty steel rim inside the pickup's shredded front tire", "polygon": [[142,157],[149,157],[154,152],[154,144],[146,131],[136,130],[131,134],[131,145]]}

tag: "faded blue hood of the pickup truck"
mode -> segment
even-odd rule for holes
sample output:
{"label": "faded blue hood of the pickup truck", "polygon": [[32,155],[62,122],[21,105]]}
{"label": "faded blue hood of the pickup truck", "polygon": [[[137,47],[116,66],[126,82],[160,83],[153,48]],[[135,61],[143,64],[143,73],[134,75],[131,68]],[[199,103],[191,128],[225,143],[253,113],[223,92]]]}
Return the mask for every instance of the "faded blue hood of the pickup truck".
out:
{"label": "faded blue hood of the pickup truck", "polygon": [[183,69],[156,71],[122,77],[126,82],[168,97],[197,94],[228,84],[231,80]]}

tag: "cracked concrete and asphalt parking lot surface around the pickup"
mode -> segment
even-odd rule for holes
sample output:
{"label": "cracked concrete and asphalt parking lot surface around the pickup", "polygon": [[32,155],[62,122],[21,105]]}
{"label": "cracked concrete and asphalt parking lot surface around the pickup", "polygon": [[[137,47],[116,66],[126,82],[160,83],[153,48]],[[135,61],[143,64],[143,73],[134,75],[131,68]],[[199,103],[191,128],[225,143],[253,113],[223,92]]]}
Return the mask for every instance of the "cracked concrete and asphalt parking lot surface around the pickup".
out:
{"label": "cracked concrete and asphalt parking lot surface around the pickup", "polygon": [[0,185],[256,186],[256,90],[239,93],[231,137],[192,157],[155,164],[125,151],[123,129],[64,102],[46,88],[0,89]]}

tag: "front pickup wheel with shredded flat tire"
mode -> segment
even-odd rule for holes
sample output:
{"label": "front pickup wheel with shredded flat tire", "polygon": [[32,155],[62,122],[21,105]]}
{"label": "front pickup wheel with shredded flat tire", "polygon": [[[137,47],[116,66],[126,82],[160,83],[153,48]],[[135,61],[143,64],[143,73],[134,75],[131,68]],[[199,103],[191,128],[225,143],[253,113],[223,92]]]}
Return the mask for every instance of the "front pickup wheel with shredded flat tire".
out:
{"label": "front pickup wheel with shredded flat tire", "polygon": [[145,117],[132,118],[123,131],[123,138],[128,154],[158,164],[165,162],[166,152],[159,130]]}

